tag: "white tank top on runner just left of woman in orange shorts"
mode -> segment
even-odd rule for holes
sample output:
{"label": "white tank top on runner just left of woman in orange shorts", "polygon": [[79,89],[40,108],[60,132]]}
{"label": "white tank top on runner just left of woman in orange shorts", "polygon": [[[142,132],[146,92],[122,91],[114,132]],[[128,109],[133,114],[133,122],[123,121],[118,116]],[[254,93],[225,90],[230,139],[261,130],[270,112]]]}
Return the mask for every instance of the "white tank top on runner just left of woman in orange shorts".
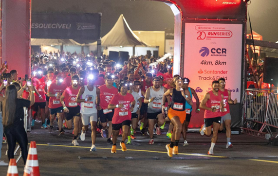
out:
{"label": "white tank top on runner just left of woman in orange shorts", "polygon": [[150,100],[152,97],[155,97],[155,99],[148,104],[148,113],[160,112],[162,110],[164,88],[160,86],[158,91],[154,91],[152,87],[149,87],[149,90],[148,99]]}

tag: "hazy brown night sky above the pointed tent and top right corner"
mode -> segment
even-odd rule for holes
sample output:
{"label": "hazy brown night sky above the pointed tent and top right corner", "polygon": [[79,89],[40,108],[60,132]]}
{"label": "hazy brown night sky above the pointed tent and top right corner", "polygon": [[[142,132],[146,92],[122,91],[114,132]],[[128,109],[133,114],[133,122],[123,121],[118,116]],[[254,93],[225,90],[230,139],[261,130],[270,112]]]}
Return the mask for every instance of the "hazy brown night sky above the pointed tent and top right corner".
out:
{"label": "hazy brown night sky above the pointed tent and top right corner", "polygon": [[[248,6],[252,28],[263,40],[278,41],[278,0],[251,0]],[[157,1],[137,0],[32,0],[33,12],[102,13],[102,36],[123,14],[132,30],[163,31],[174,27],[169,6]],[[249,28],[248,24],[248,28]]]}

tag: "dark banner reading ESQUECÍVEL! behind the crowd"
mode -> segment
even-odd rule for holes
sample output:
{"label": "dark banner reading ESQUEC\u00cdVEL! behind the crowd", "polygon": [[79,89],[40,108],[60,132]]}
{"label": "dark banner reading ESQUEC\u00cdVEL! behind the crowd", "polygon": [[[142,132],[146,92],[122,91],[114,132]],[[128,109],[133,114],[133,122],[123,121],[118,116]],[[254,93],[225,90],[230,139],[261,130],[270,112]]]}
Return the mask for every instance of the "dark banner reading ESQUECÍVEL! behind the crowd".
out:
{"label": "dark banner reading ESQUEC\u00cdVEL! behind the crowd", "polygon": [[100,13],[32,13],[32,38],[100,39]]}

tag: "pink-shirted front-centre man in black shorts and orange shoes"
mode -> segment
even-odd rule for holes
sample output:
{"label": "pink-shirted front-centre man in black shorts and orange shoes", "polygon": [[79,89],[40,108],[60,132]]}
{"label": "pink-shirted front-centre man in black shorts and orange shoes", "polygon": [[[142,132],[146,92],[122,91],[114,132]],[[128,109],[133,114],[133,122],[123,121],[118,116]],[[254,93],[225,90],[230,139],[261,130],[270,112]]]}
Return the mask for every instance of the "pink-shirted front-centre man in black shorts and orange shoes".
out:
{"label": "pink-shirted front-centre man in black shorts and orange shoes", "polygon": [[117,153],[116,142],[121,128],[123,129],[123,134],[120,146],[122,147],[123,152],[127,151],[125,141],[128,137],[128,132],[130,129],[131,112],[133,111],[133,108],[135,106],[134,98],[130,93],[128,93],[128,90],[128,83],[122,82],[119,85],[119,93],[112,97],[111,102],[108,106],[108,109],[115,109],[112,118],[113,145],[111,148],[111,153]]}

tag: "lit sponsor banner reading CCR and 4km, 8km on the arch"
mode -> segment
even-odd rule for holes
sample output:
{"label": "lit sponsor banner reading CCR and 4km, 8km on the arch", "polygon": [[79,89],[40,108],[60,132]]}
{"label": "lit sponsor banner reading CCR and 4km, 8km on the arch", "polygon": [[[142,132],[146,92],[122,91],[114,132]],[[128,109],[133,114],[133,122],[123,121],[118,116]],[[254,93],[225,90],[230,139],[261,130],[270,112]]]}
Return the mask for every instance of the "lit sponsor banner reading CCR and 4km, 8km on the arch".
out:
{"label": "lit sponsor banner reading CCR and 4km, 8km on the arch", "polygon": [[232,99],[241,97],[242,24],[185,23],[184,75],[200,101],[224,78]]}

